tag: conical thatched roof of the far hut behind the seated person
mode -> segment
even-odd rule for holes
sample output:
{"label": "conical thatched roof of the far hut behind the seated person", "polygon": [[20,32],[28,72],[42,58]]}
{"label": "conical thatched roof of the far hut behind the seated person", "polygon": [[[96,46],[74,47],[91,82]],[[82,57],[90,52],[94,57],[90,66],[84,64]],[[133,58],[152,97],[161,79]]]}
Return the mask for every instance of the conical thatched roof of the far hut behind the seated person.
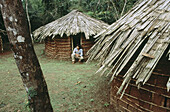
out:
{"label": "conical thatched roof of the far hut behind the seated person", "polygon": [[36,39],[43,40],[47,36],[54,38],[56,35],[63,37],[84,33],[86,39],[96,35],[103,29],[108,27],[108,24],[103,21],[96,20],[88,15],[85,15],[78,10],[73,10],[69,14],[59,18],[45,26],[42,26],[33,32]]}

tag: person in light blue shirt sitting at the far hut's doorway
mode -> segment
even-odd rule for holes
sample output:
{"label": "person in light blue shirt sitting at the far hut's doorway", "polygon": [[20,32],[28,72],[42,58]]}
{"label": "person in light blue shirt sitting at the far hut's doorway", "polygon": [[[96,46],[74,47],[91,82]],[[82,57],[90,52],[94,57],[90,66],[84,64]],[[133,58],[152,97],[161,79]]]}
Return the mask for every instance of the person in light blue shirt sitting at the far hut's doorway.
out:
{"label": "person in light blue shirt sitting at the far hut's doorway", "polygon": [[80,45],[77,45],[74,50],[73,53],[71,54],[72,57],[72,63],[74,64],[76,59],[79,60],[79,62],[81,62],[84,58],[83,58],[83,49],[81,48]]}

